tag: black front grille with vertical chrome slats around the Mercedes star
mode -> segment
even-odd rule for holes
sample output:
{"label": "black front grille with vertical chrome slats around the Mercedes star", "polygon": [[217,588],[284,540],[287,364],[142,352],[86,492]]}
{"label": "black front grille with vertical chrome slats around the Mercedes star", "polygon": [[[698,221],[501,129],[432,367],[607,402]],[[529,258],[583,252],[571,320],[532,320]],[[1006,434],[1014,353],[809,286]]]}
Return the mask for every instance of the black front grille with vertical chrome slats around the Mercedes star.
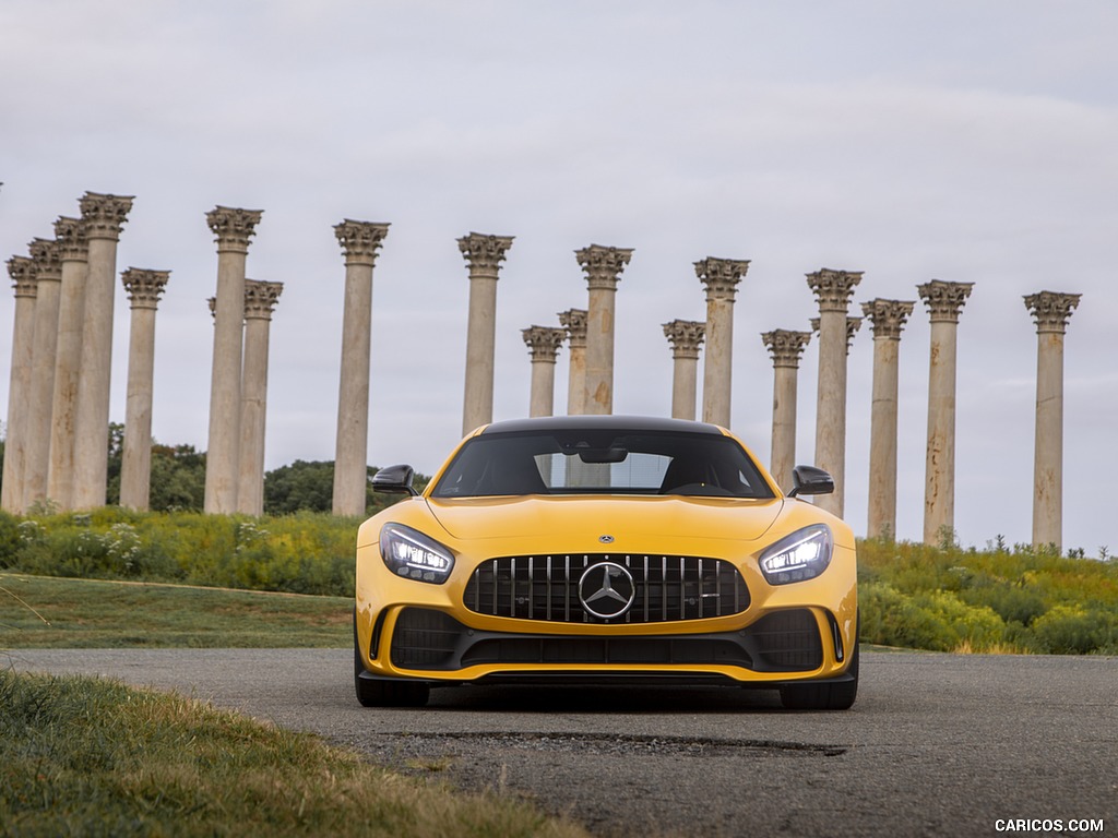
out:
{"label": "black front grille with vertical chrome slats around the Mercedes star", "polygon": [[[620,617],[588,612],[578,583],[590,568],[614,562],[633,577],[633,606]],[[741,613],[749,589],[730,562],[671,555],[556,554],[492,559],[474,571],[464,604],[492,617],[551,622],[639,623],[701,620]]]}

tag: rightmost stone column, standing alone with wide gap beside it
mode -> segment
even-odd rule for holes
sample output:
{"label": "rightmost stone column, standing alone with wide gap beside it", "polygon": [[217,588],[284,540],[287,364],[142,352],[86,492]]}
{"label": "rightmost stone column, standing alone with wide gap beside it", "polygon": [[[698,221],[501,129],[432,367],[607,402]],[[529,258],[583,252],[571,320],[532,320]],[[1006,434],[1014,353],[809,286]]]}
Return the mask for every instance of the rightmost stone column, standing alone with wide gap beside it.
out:
{"label": "rightmost stone column, standing alone with wide gap beside it", "polygon": [[1082,294],[1042,291],[1025,297],[1036,322],[1036,442],[1033,546],[1063,546],[1063,335]]}

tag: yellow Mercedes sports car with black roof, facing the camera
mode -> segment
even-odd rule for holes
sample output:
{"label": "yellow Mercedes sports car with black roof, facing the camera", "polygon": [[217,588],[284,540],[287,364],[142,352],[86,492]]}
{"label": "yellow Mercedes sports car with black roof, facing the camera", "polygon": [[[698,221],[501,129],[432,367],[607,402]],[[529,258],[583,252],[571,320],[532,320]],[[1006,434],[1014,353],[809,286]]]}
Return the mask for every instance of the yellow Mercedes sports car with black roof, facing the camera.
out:
{"label": "yellow Mercedes sports car with black roof, facing the camera", "polygon": [[729,431],[577,416],[485,426],[421,494],[358,534],[354,684],[366,706],[432,687],[685,683],[769,687],[786,707],[858,694],[854,536],[785,495]]}

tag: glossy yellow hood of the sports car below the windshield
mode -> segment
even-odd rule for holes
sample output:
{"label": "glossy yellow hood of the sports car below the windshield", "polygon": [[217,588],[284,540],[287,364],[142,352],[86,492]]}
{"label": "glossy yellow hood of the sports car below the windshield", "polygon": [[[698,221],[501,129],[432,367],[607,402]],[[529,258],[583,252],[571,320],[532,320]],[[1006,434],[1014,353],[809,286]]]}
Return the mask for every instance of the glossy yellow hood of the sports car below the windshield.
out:
{"label": "glossy yellow hood of the sports car below the windshield", "polygon": [[[529,540],[536,550],[647,551],[676,539],[756,541],[773,526],[781,498],[636,496],[473,497],[428,506],[438,523],[461,541]],[[603,542],[601,536],[612,536]]]}

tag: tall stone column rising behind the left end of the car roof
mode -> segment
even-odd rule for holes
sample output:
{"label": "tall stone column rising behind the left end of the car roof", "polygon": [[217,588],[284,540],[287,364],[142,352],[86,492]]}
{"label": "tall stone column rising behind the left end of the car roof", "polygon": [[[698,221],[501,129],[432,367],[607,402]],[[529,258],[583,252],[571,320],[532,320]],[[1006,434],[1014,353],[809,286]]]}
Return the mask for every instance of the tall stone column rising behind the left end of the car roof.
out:
{"label": "tall stone column rising behind the left end of the car roof", "polygon": [[496,279],[512,236],[471,232],[458,239],[470,266],[470,314],[466,326],[466,384],[462,432],[493,421],[493,345],[496,335]]}

